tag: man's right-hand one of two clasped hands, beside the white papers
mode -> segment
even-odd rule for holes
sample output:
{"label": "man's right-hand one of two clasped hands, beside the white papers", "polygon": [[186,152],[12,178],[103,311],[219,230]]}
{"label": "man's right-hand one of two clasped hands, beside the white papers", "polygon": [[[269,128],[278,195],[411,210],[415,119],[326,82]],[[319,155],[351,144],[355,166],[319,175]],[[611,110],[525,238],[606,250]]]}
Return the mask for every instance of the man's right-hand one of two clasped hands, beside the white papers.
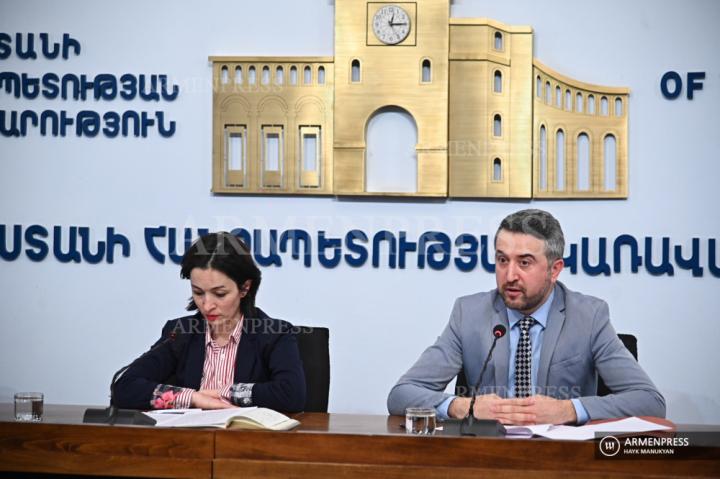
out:
{"label": "man's right-hand one of two clasped hands, beside the white papers", "polygon": [[568,424],[577,421],[572,401],[542,395],[502,399],[492,406],[491,414],[503,424]]}

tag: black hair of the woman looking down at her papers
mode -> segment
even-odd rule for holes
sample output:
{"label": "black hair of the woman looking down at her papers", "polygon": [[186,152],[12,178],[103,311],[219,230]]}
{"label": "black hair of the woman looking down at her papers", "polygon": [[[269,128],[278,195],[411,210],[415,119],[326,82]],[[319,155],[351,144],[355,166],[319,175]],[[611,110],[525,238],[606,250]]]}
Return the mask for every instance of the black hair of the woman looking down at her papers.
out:
{"label": "black hair of the woman looking down at her papers", "polygon": [[[250,254],[250,248],[237,236],[220,231],[198,238],[183,256],[180,277],[190,279],[190,272],[195,269],[214,269],[232,279],[239,290],[245,281],[250,280],[250,289],[240,300],[240,310],[246,318],[257,316],[255,311],[255,295],[260,286],[260,270]],[[188,311],[198,307],[190,298]]]}

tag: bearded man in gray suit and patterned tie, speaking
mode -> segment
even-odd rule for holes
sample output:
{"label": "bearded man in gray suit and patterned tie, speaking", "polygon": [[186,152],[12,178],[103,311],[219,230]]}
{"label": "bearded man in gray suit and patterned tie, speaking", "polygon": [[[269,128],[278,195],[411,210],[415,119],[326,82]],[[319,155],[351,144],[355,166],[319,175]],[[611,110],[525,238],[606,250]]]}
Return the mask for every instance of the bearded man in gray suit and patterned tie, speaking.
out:
{"label": "bearded man in gray suit and patterned tie, speaking", "polygon": [[[608,305],[557,281],[565,239],[542,210],[513,213],[495,235],[497,289],[458,298],[435,344],[388,396],[390,414],[435,408],[440,418],[469,414],[470,398],[444,392],[464,368],[477,390],[473,414],[504,424],[583,424],[625,416],[665,417],[665,399],[618,339]],[[487,370],[480,370],[499,339]],[[613,392],[597,396],[597,374]],[[473,391],[470,391],[473,392]]]}

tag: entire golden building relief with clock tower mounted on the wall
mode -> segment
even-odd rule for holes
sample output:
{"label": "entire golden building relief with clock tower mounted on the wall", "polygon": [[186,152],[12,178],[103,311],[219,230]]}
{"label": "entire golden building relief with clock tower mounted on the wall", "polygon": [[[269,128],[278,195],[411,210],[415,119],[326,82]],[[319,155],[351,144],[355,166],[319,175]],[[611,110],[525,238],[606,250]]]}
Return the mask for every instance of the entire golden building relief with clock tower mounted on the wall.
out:
{"label": "entire golden building relief with clock tower mounted on the wall", "polygon": [[[334,57],[210,57],[213,192],[626,198],[629,90],[544,66],[529,26],[449,14],[336,0]],[[417,130],[414,191],[368,188],[388,110]]]}

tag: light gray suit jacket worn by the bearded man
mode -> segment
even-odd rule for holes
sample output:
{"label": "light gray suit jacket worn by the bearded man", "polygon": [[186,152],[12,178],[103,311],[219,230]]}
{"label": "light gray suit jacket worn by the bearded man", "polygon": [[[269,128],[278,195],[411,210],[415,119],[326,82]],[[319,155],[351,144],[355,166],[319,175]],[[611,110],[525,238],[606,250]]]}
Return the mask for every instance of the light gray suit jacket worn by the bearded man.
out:
{"label": "light gray suit jacket worn by the bearded man", "polygon": [[[405,408],[411,406],[440,405],[451,396],[444,390],[462,367],[473,387],[496,324],[509,331],[507,309],[497,290],[458,298],[435,344],[422,353],[390,391],[390,414],[404,414]],[[580,398],[590,419],[665,417],[665,399],[618,338],[605,301],[556,283],[542,341],[536,394]],[[478,394],[494,392],[508,397],[509,364],[510,342],[506,334],[497,342]],[[613,394],[596,395],[597,374]]]}

